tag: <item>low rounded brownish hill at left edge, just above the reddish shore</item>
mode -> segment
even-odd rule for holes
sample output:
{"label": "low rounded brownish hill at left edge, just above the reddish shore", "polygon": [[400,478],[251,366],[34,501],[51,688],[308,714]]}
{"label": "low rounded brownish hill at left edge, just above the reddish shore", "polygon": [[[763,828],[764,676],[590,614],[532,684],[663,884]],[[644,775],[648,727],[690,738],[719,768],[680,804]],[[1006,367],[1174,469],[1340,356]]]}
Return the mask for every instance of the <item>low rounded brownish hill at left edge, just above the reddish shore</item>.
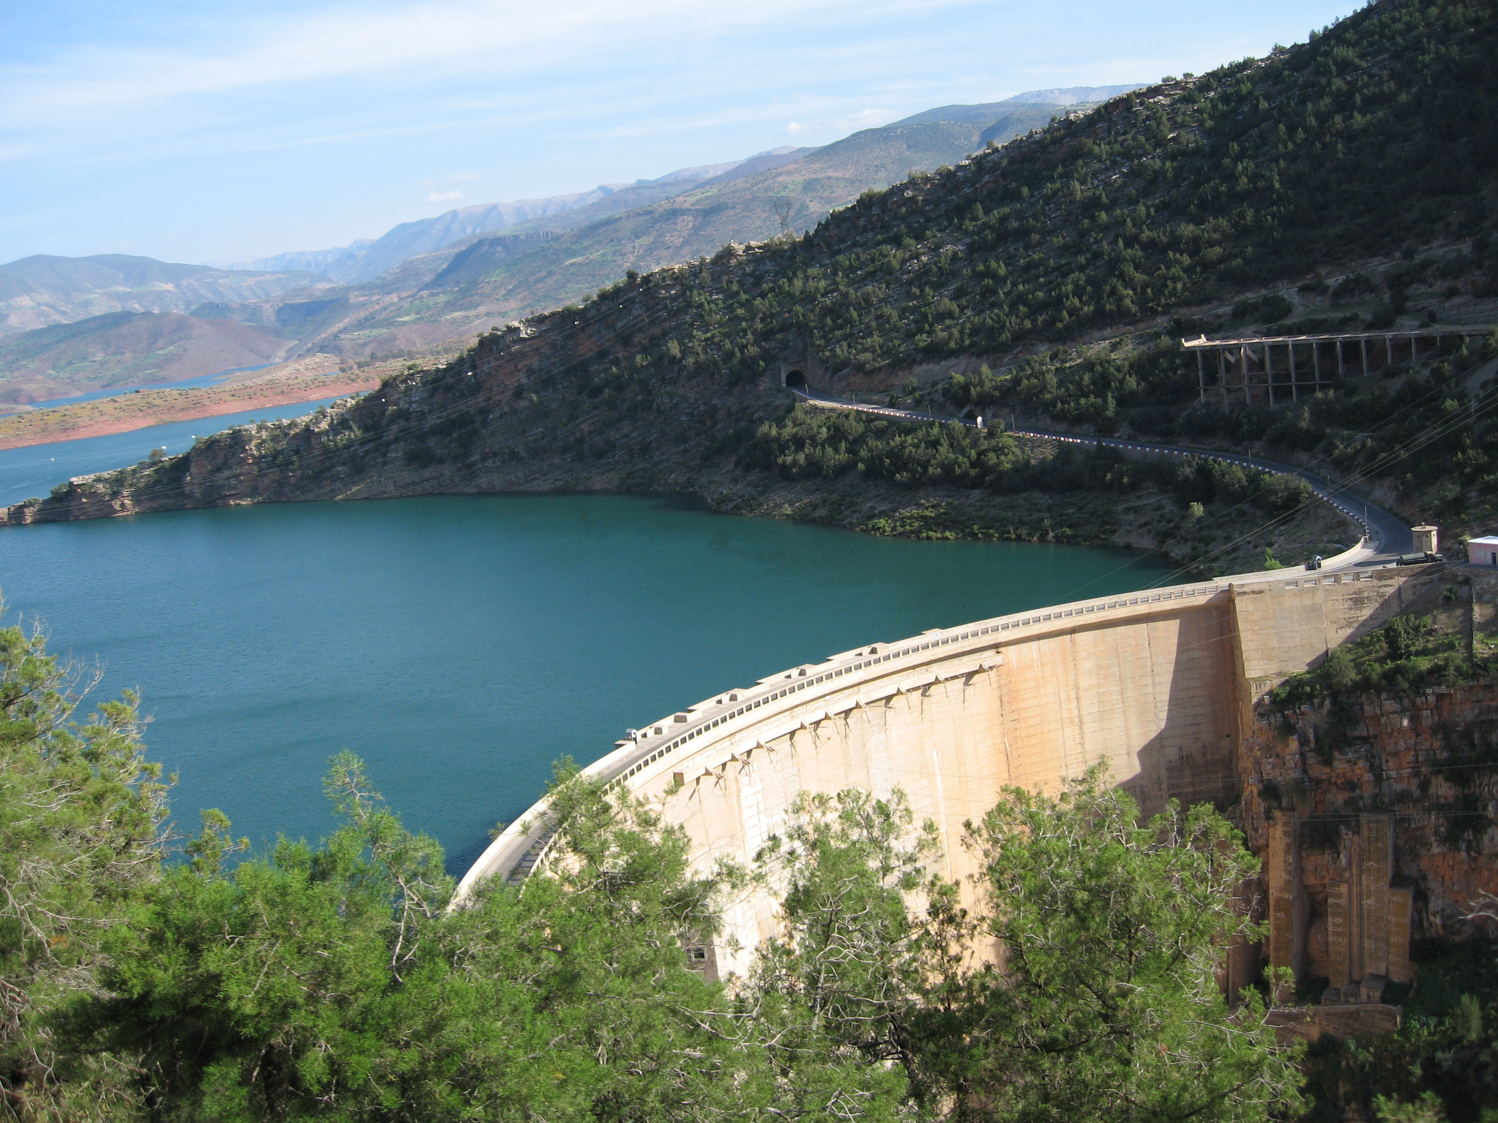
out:
{"label": "low rounded brownish hill at left edge, just above the reddish shore", "polygon": [[288,347],[238,320],[111,311],[0,340],[0,401],[192,379],[274,362]]}

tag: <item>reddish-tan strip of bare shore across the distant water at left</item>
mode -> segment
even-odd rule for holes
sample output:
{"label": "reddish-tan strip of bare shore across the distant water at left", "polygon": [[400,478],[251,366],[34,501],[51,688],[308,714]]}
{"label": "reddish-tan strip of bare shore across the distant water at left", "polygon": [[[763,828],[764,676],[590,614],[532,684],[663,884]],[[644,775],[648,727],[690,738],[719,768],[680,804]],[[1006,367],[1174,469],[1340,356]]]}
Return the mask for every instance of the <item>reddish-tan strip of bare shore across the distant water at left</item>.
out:
{"label": "reddish-tan strip of bare shore across the distant water at left", "polygon": [[374,377],[304,377],[192,389],[150,389],[0,418],[0,451],[130,433],[374,389]]}

